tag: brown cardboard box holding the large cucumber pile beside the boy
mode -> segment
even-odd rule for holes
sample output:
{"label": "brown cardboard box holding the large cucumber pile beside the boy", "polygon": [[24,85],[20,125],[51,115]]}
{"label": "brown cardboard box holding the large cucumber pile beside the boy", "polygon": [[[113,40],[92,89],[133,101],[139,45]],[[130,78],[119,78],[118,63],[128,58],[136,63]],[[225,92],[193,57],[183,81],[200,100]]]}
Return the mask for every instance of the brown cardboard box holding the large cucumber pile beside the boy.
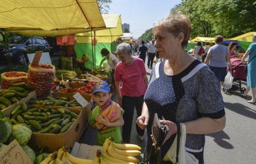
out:
{"label": "brown cardboard box holding the large cucumber pile beside the boy", "polygon": [[[31,105],[31,107],[36,107],[36,105]],[[57,109],[59,107],[52,106],[52,109]],[[35,146],[40,146],[40,148],[48,148],[51,152],[59,150],[63,146],[67,146],[69,149],[72,148],[76,141],[79,141],[82,135],[82,113],[80,109],[69,108],[69,110],[78,114],[76,122],[64,133],[61,134],[50,134],[50,133],[32,133],[31,139],[28,145],[31,148]]]}

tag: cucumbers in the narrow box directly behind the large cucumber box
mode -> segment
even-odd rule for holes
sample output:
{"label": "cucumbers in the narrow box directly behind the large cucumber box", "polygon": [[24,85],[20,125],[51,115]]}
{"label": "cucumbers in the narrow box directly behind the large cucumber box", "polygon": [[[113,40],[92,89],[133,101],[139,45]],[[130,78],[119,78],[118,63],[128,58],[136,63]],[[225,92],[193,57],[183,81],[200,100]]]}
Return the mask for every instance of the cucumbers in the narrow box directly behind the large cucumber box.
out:
{"label": "cucumbers in the narrow box directly behind the large cucumber box", "polygon": [[29,104],[39,105],[54,105],[54,106],[65,106],[65,107],[81,107],[76,100],[69,100],[68,97],[53,98],[52,95],[47,96],[46,100],[30,100]]}

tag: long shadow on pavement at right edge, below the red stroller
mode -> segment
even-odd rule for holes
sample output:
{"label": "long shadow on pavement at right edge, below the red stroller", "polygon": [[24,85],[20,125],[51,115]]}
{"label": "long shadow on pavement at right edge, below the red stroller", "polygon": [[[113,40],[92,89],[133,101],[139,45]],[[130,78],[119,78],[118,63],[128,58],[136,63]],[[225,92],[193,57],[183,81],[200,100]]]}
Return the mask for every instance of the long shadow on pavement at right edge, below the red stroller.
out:
{"label": "long shadow on pavement at right edge, below the red stroller", "polygon": [[237,114],[241,114],[243,116],[256,119],[256,111],[241,103],[225,102],[225,108],[234,111]]}

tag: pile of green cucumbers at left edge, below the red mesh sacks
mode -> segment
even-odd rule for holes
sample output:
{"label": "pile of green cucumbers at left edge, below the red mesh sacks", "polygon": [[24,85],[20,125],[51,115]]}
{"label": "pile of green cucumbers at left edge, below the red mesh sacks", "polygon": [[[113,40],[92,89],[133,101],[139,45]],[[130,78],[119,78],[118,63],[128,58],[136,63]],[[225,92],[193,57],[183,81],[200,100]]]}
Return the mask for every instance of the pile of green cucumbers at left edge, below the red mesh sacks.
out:
{"label": "pile of green cucumbers at left edge, below the red mesh sacks", "polygon": [[27,85],[25,82],[10,84],[8,89],[3,89],[0,92],[0,110],[26,97],[31,90],[34,90],[34,88]]}

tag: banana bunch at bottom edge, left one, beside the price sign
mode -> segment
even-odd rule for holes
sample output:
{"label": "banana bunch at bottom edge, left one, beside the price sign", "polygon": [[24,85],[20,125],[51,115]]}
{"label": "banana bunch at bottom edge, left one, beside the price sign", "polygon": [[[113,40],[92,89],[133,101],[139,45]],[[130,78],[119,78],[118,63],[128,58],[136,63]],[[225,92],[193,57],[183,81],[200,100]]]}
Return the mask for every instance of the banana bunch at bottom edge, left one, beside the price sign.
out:
{"label": "banana bunch at bottom edge, left one, beside the price sign", "polygon": [[40,164],[63,164],[63,161],[68,164],[100,164],[100,162],[96,160],[97,158],[93,161],[90,159],[82,159],[72,156],[68,153],[67,148],[64,147],[59,149],[58,152],[49,154],[49,156]]}

